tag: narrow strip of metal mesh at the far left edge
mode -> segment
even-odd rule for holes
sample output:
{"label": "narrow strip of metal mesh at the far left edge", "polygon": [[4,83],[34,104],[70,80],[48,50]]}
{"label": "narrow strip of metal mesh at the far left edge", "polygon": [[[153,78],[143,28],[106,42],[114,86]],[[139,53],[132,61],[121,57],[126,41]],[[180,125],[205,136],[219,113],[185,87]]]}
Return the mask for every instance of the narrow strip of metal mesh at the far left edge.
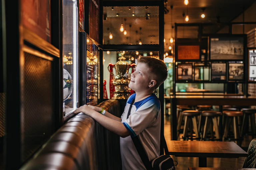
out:
{"label": "narrow strip of metal mesh at the far left edge", "polygon": [[0,137],[5,135],[5,93],[0,93]]}

